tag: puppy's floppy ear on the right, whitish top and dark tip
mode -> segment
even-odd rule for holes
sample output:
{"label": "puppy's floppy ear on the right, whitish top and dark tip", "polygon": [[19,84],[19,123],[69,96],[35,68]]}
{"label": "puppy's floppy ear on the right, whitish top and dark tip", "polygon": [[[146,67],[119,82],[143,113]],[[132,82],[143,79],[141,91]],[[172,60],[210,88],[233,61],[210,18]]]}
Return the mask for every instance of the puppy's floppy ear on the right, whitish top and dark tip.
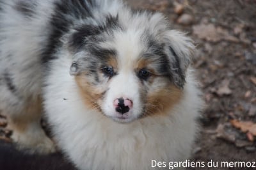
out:
{"label": "puppy's floppy ear on the right, whitish top and dark tip", "polygon": [[186,82],[186,70],[191,63],[195,45],[188,36],[179,31],[170,30],[164,34],[165,52],[170,61],[172,81],[179,88]]}

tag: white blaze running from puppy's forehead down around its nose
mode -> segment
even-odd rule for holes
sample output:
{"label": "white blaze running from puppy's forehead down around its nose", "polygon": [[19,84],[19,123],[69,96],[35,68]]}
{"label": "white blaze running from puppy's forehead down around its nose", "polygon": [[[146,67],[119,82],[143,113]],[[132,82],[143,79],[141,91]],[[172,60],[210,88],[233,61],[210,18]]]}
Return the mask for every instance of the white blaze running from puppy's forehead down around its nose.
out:
{"label": "white blaze running from puppy's forehead down around its nose", "polygon": [[[117,51],[117,74],[111,78],[108,91],[103,101],[102,110],[106,116],[119,122],[129,122],[138,118],[143,106],[140,100],[140,80],[136,76],[134,65],[141,55],[143,44],[141,33],[134,31],[118,32],[115,35]],[[127,112],[118,112],[114,101],[118,98],[130,100],[132,107]]]}

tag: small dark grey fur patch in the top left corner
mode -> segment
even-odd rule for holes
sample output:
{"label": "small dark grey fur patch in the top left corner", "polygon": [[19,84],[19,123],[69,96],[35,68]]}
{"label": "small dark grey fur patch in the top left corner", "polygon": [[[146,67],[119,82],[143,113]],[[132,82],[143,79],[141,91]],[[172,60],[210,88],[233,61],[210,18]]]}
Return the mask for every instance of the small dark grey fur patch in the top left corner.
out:
{"label": "small dark grey fur patch in the top left corner", "polygon": [[33,1],[17,1],[15,4],[15,10],[20,12],[22,15],[32,17],[35,14],[36,4]]}

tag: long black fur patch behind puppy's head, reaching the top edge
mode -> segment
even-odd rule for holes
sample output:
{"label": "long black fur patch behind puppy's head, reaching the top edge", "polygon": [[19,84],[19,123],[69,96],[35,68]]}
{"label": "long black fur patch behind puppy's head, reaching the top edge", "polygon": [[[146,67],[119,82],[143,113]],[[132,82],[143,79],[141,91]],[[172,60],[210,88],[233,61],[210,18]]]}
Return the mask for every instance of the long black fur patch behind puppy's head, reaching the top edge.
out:
{"label": "long black fur patch behind puppy's head, reaching the top edge", "polygon": [[47,41],[48,44],[42,54],[43,63],[55,58],[53,54],[56,52],[56,47],[61,45],[60,38],[68,32],[74,20],[92,17],[92,9],[88,4],[94,5],[91,0],[65,0],[54,3],[55,13],[52,14],[50,22],[52,30]]}

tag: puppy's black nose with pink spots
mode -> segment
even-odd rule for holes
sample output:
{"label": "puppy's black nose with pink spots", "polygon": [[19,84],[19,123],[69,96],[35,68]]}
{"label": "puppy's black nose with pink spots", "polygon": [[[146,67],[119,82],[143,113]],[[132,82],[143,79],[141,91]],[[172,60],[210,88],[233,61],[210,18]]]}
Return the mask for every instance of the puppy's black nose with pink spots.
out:
{"label": "puppy's black nose with pink spots", "polygon": [[116,112],[120,112],[121,114],[125,114],[125,112],[129,112],[132,108],[132,100],[129,98],[116,98],[114,100],[114,107]]}

